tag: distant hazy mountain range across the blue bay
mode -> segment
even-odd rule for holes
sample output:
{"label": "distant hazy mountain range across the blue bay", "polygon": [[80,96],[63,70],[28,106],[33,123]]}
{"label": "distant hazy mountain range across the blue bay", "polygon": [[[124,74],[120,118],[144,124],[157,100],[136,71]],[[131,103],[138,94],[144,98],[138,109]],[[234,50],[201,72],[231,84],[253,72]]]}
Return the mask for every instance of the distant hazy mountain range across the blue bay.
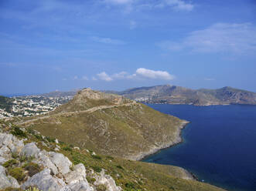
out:
{"label": "distant hazy mountain range across the blue bay", "polygon": [[129,99],[148,103],[190,104],[195,106],[256,105],[256,93],[224,87],[221,89],[186,89],[176,85],[156,85],[115,92]]}

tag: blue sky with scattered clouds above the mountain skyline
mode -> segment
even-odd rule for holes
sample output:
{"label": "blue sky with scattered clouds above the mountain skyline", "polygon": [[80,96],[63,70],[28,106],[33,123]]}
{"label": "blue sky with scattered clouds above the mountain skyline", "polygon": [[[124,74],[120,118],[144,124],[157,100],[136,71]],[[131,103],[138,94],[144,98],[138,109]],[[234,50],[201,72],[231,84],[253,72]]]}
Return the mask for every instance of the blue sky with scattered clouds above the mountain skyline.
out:
{"label": "blue sky with scattered clouds above the mountain skyline", "polygon": [[255,0],[1,0],[0,94],[256,92]]}

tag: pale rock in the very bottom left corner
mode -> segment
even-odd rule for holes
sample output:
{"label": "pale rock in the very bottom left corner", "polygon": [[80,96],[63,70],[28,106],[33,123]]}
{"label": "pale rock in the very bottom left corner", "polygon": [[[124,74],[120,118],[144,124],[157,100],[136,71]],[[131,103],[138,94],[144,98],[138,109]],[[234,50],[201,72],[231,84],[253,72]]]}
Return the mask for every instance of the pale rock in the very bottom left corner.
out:
{"label": "pale rock in the very bottom left corner", "polygon": [[19,188],[18,181],[12,176],[6,176],[5,167],[0,166],[0,189]]}

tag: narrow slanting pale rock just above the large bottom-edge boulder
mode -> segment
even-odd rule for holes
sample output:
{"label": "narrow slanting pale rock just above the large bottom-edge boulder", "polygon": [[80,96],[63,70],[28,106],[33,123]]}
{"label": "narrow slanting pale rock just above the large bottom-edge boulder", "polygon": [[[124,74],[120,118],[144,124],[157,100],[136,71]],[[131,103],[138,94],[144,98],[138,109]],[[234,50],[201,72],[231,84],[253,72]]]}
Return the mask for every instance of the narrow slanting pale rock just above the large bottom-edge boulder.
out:
{"label": "narrow slanting pale rock just above the large bottom-edge boulder", "polygon": [[54,175],[57,175],[59,173],[57,167],[49,159],[48,152],[46,152],[45,150],[37,154],[36,159],[33,160],[33,163],[43,165],[45,168],[50,169],[51,173],[53,173]]}

